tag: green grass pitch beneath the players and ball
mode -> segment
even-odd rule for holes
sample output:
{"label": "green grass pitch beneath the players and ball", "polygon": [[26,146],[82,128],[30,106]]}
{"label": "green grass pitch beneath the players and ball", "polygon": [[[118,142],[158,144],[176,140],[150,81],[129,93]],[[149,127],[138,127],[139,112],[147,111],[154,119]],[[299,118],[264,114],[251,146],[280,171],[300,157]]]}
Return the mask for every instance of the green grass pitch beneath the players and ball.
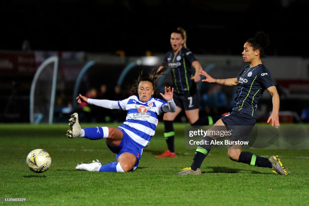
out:
{"label": "green grass pitch beneath the players and ball", "polygon": [[[81,124],[82,128],[102,125],[106,124]],[[250,150],[267,158],[279,155],[289,176],[233,162],[226,149],[210,152],[202,164],[202,175],[175,175],[191,165],[195,152],[184,149],[184,125],[174,124],[176,158],[156,158],[167,148],[163,124],[159,124],[135,171],[108,173],[75,170],[82,161],[116,161],[104,140],[67,138],[67,124],[0,124],[0,197],[28,198],[28,202],[0,205],[309,204],[309,150]],[[26,165],[26,156],[34,149],[44,149],[52,157],[51,167],[44,173],[33,173]]]}

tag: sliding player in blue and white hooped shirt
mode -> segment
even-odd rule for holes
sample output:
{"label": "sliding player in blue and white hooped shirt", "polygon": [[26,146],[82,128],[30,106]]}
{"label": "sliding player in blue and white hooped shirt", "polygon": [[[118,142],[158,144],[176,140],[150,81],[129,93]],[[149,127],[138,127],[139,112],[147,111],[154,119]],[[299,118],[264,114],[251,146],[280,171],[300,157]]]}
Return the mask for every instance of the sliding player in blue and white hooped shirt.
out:
{"label": "sliding player in blue and white hooped shirt", "polygon": [[92,163],[82,163],[76,166],[77,170],[100,172],[128,172],[135,170],[142,156],[144,147],[155,135],[158,117],[164,112],[175,112],[176,105],[173,101],[174,89],[165,87],[161,96],[166,100],[153,98],[157,78],[167,70],[167,67],[154,68],[149,77],[142,77],[131,88],[132,96],[127,99],[112,101],[107,99],[90,99],[81,94],[76,98],[82,101],[108,109],[121,109],[127,111],[125,122],[118,128],[89,127],[81,129],[78,123],[78,114],[71,115],[70,128],[67,131],[69,138],[84,137],[91,140],[105,139],[107,147],[116,153],[116,162],[102,165],[99,160]]}

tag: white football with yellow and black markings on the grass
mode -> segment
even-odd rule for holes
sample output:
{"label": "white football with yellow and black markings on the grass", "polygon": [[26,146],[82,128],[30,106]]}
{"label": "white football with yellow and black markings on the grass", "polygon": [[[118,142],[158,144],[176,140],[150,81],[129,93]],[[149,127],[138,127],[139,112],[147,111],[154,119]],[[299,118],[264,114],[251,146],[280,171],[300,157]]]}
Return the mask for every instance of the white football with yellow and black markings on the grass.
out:
{"label": "white football with yellow and black markings on the grass", "polygon": [[26,163],[32,172],[42,173],[48,170],[52,164],[52,158],[47,151],[36,149],[28,154]]}

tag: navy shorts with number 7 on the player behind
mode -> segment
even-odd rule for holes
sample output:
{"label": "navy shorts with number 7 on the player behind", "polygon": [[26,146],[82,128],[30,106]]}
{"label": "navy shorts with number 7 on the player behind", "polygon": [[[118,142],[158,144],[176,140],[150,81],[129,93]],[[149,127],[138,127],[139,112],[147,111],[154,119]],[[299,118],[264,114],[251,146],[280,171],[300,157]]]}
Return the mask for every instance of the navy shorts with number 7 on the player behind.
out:
{"label": "navy shorts with number 7 on the player behind", "polygon": [[173,99],[176,106],[184,110],[192,110],[200,108],[200,94],[196,92],[195,94],[173,94]]}

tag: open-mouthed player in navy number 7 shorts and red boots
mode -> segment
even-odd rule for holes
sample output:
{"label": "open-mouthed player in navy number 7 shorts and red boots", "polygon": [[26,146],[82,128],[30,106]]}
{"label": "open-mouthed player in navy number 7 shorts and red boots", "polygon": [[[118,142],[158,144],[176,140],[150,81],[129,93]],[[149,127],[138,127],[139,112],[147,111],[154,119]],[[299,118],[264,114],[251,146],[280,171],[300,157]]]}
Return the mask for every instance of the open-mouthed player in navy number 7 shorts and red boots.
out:
{"label": "open-mouthed player in navy number 7 shorts and red boots", "polygon": [[[210,125],[217,121],[218,117],[203,117],[199,119],[200,92],[196,82],[201,80],[197,71],[201,70],[201,64],[186,46],[187,35],[183,28],[178,27],[171,33],[172,50],[168,51],[164,63],[168,63],[171,76],[174,80],[174,101],[176,112],[167,112],[163,115],[164,137],[167,143],[167,151],[157,157],[175,157],[174,138],[175,131],[173,121],[184,109],[190,125]],[[192,71],[193,68],[193,71]],[[195,69],[195,74],[193,76]],[[214,120],[213,120],[214,119]]]}

